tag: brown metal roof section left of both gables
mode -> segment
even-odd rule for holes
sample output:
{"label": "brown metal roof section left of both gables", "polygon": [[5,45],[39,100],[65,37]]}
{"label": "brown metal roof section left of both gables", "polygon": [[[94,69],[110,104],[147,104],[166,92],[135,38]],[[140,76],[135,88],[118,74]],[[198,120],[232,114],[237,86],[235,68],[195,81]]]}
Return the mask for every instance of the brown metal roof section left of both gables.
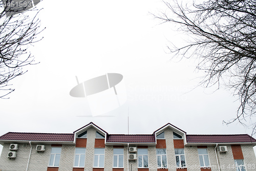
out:
{"label": "brown metal roof section left of both gables", "polygon": [[73,141],[74,134],[52,133],[13,133],[9,132],[0,137],[0,140],[16,141]]}

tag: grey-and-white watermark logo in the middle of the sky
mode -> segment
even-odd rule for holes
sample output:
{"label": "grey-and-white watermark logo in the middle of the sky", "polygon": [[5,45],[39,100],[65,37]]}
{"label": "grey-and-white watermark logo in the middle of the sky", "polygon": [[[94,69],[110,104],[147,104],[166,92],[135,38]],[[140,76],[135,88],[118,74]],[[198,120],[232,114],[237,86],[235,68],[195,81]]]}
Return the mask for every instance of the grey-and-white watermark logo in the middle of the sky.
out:
{"label": "grey-and-white watermark logo in the middle of the sky", "polygon": [[126,90],[123,76],[118,73],[106,73],[79,83],[71,91],[72,97],[86,97],[92,116],[101,116],[119,108],[125,103]]}

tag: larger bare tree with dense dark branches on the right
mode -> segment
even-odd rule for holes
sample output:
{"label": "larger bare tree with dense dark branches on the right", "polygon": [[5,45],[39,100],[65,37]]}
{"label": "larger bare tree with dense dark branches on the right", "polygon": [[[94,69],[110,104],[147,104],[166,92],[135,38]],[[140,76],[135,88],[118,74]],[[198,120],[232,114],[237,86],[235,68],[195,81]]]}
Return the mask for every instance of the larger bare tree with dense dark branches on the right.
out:
{"label": "larger bare tree with dense dark branches on the right", "polygon": [[224,85],[240,101],[237,116],[224,122],[238,120],[252,126],[255,134],[251,118],[256,114],[256,1],[164,3],[168,10],[153,15],[162,23],[179,25],[178,30],[191,37],[185,46],[169,46],[170,52],[198,58],[197,68],[206,73],[200,85]]}

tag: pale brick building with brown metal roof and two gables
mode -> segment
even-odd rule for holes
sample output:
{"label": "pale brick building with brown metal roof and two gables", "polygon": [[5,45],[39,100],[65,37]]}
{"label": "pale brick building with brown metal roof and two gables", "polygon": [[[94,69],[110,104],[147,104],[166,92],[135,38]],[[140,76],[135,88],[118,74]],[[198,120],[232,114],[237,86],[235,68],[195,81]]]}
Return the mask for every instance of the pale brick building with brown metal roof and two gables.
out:
{"label": "pale brick building with brown metal roof and two gables", "polygon": [[251,136],[187,135],[170,123],[150,135],[117,135],[91,122],[72,134],[9,132],[0,143],[3,171],[256,170]]}

